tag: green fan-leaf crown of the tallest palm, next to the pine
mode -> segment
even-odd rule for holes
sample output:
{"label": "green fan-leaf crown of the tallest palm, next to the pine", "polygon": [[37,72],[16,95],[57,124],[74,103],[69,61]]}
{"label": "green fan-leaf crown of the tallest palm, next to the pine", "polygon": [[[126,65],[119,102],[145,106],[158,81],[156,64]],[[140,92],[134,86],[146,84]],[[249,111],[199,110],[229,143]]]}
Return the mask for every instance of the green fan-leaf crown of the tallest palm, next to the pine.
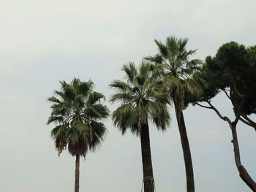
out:
{"label": "green fan-leaf crown of the tallest palm, next to the pine", "polygon": [[187,38],[167,37],[165,44],[158,40],[154,42],[159,53],[145,59],[160,64],[165,87],[173,101],[179,104],[179,109],[183,110],[185,94],[200,96],[202,93],[200,86],[192,79],[192,75],[200,70],[202,61],[189,60],[196,50],[187,50]]}

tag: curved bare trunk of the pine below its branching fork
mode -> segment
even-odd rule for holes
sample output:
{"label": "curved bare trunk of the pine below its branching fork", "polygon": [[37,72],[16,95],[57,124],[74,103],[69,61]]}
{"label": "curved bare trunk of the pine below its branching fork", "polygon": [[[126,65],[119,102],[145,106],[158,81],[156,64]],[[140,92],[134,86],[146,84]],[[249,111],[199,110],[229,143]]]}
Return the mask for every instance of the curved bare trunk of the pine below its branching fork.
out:
{"label": "curved bare trunk of the pine below its branching fork", "polygon": [[234,147],[234,155],[235,155],[235,162],[236,167],[238,169],[239,175],[242,180],[244,180],[244,183],[249,186],[249,188],[252,189],[252,191],[256,191],[256,183],[254,180],[252,180],[252,177],[249,176],[248,172],[244,168],[244,166],[241,164],[240,159],[240,151],[239,151],[239,145],[238,145],[238,137],[236,133],[236,125],[230,125],[231,131],[232,131],[232,143]]}

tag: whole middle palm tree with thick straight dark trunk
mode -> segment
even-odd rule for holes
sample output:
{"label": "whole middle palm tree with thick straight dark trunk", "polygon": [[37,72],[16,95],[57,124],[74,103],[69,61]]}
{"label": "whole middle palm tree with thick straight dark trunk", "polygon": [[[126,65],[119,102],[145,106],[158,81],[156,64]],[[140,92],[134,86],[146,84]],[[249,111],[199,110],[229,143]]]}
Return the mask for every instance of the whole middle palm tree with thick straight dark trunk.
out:
{"label": "whole middle palm tree with thick straight dark trunk", "polygon": [[116,94],[110,101],[121,101],[121,105],[113,112],[114,125],[124,134],[129,128],[132,134],[140,137],[144,191],[154,191],[154,177],[151,162],[151,149],[148,120],[152,120],[157,128],[165,129],[170,115],[167,110],[168,95],[160,91],[157,77],[150,64],[142,63],[137,68],[132,62],[124,65],[126,81],[113,80],[111,88]]}

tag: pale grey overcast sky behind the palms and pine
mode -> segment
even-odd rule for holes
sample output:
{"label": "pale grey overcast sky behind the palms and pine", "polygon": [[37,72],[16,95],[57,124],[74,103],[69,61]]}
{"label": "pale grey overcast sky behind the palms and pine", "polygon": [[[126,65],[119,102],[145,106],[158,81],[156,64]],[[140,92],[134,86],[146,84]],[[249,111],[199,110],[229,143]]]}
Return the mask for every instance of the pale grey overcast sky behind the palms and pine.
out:
{"label": "pale grey overcast sky behind the palms and pine", "polygon": [[[75,185],[75,158],[58,156],[47,99],[59,80],[93,80],[108,102],[108,85],[122,79],[121,66],[157,53],[154,39],[189,38],[188,48],[204,60],[225,42],[256,45],[255,0],[67,1],[0,0],[0,191],[68,192]],[[224,94],[214,100],[233,117]],[[166,131],[150,126],[157,191],[186,191],[184,161],[175,113]],[[227,123],[200,107],[184,111],[196,191],[241,192]],[[80,191],[140,191],[140,139],[124,136],[105,121],[108,135],[80,161]],[[241,161],[256,180],[256,134],[238,124]]]}

